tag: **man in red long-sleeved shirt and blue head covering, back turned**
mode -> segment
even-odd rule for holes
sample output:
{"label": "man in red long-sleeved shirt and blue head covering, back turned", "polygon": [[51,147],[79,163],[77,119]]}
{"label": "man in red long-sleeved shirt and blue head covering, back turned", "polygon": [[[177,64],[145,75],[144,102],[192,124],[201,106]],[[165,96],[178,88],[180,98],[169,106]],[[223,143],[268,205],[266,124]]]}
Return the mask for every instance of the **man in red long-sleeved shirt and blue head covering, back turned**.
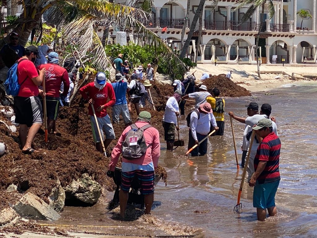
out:
{"label": "man in red long-sleeved shirt and blue head covering, back turned", "polygon": [[[59,100],[61,83],[64,83],[64,92],[62,96],[67,96],[69,89],[69,79],[67,70],[58,65],[58,54],[50,52],[47,64],[41,64],[38,69],[45,69],[45,93],[46,93],[46,113],[47,113],[47,130],[53,134],[60,134],[55,127],[56,118],[59,112]],[[41,84],[41,86],[43,86]],[[41,92],[42,94],[42,92]],[[41,100],[43,104],[43,100]]]}

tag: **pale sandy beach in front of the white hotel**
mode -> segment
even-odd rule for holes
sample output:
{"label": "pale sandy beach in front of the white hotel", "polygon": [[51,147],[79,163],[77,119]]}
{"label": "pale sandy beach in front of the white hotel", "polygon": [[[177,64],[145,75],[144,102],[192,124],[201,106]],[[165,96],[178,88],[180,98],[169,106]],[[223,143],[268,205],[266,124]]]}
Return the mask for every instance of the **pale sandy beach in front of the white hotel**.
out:
{"label": "pale sandy beach in front of the white hotel", "polygon": [[[257,77],[256,65],[232,65],[232,64],[198,64],[195,69],[191,69],[190,72],[195,72],[195,76],[199,79],[203,73],[219,75],[227,74],[229,70],[232,70],[232,81],[240,86],[248,89],[251,92],[266,91],[281,87],[282,85],[294,83],[294,82],[307,82],[304,76],[316,76],[317,77],[317,65],[261,65],[261,79]],[[281,72],[292,75],[295,74],[299,79],[296,81],[291,80],[290,76],[284,75]],[[274,73],[268,73],[274,72]],[[280,72],[280,73],[277,73]]]}

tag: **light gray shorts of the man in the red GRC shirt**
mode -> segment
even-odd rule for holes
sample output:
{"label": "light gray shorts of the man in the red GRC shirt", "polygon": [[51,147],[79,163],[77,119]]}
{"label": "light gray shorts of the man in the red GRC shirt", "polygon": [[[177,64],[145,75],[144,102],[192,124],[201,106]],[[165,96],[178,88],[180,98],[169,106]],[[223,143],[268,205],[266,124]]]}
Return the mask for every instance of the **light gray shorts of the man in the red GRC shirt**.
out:
{"label": "light gray shorts of the man in the red GRC shirt", "polygon": [[[98,132],[98,128],[97,128],[97,124],[96,124],[94,116],[90,116],[90,121],[91,121],[91,129],[93,131],[94,142],[95,143],[100,142],[100,136],[99,136],[99,132]],[[106,132],[106,139],[116,138],[114,135],[112,124],[110,122],[109,115],[104,117],[97,117],[97,121],[98,121],[99,129],[100,129],[101,137],[103,141],[105,140],[103,136],[103,131]]]}

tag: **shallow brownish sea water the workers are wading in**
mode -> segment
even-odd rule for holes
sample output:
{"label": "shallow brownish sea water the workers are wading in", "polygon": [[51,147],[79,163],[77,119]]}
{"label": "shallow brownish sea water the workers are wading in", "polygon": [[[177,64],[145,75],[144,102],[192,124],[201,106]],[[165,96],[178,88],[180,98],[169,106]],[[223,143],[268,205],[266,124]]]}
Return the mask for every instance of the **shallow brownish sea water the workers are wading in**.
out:
{"label": "shallow brownish sea water the workers are wading in", "polygon": [[[265,92],[267,93],[267,92]],[[168,173],[167,186],[155,189],[152,215],[140,216],[129,208],[132,221],[115,220],[119,208],[105,207],[113,193],[91,208],[65,207],[54,224],[85,225],[84,229],[129,236],[183,235],[195,237],[317,237],[317,84],[286,85],[271,90],[274,95],[225,98],[225,134],[208,139],[208,154],[183,156],[187,146],[165,151],[161,141],[159,163]],[[281,182],[275,196],[278,215],[256,221],[253,188],[244,184],[242,213],[236,205],[243,169],[237,172],[230,120],[227,112],[246,116],[245,104],[269,103],[281,139]],[[181,139],[188,143],[188,128],[181,117]],[[233,122],[239,163],[244,124]],[[139,219],[137,219],[139,217]]]}

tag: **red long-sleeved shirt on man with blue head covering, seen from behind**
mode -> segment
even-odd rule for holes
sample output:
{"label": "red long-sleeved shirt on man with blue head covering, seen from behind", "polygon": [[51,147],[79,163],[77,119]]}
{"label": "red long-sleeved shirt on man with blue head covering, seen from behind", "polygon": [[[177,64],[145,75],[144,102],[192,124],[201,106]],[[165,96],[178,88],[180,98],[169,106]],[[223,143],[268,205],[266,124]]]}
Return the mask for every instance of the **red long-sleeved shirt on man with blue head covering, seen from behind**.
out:
{"label": "red long-sleeved shirt on man with blue head covering, seen from behind", "polygon": [[[61,88],[61,82],[64,83],[64,93],[66,96],[69,89],[69,80],[67,70],[59,66],[58,64],[41,64],[37,69],[41,70],[45,68],[45,92],[46,96],[59,97],[59,89]],[[43,86],[43,84],[41,84]]]}

